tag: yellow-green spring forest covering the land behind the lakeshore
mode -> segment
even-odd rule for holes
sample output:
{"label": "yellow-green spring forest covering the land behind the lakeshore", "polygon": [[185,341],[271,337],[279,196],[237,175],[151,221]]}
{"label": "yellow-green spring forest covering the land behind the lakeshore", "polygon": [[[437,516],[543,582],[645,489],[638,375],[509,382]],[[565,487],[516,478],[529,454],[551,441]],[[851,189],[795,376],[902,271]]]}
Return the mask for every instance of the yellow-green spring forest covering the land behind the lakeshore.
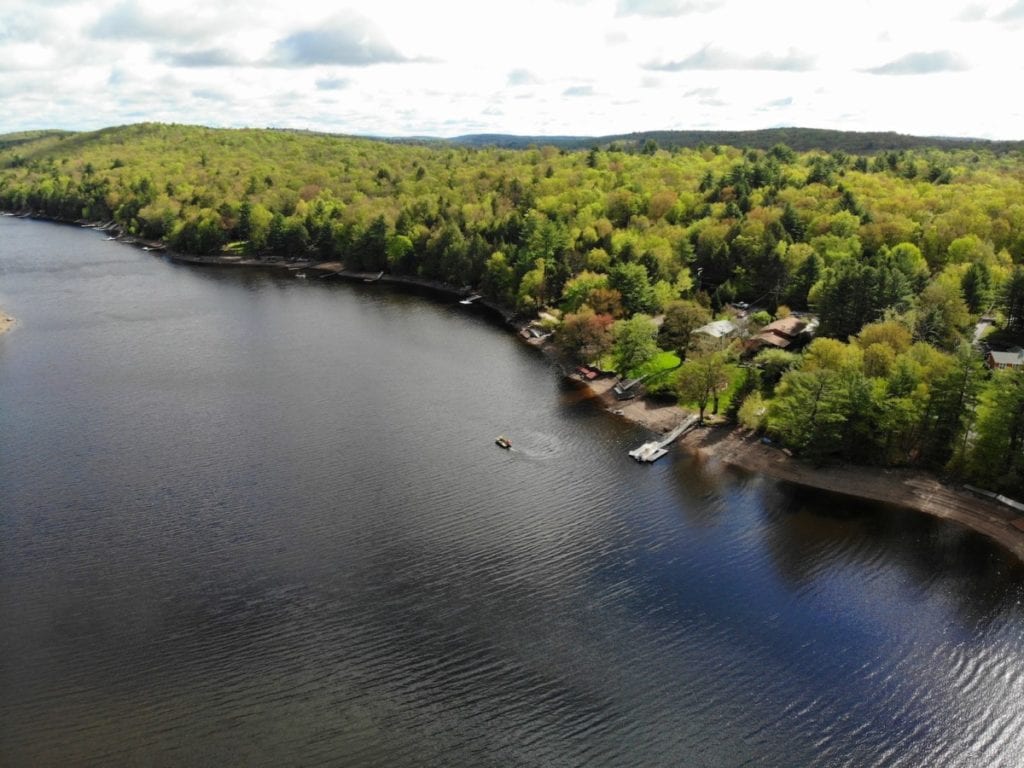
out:
{"label": "yellow-green spring forest covering the land behind the lakeshore", "polygon": [[[984,356],[1024,341],[1019,147],[542,141],[160,124],[11,134],[0,208],[115,221],[184,253],[470,286],[543,311],[575,361],[674,369],[651,389],[718,404],[812,461],[1024,492],[1024,373]],[[785,349],[692,333],[803,313],[815,338]]]}

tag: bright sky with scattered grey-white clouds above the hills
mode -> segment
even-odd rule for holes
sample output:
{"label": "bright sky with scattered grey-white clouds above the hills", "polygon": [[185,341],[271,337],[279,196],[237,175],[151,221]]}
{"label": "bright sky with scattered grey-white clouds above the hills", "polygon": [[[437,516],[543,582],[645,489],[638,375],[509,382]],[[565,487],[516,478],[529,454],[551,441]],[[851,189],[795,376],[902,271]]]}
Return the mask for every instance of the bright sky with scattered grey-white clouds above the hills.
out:
{"label": "bright sky with scattered grey-white clouds above the hills", "polygon": [[0,0],[0,133],[1024,139],[1024,0]]}

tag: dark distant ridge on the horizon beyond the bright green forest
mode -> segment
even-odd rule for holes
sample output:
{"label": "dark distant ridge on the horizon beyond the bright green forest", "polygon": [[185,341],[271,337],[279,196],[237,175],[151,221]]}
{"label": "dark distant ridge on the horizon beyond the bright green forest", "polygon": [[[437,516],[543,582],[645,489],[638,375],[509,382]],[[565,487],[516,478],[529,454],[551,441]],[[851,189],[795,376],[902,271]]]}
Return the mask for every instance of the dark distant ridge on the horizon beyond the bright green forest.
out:
{"label": "dark distant ridge on the horizon beyond the bright green forest", "polygon": [[468,146],[501,146],[521,148],[530,144],[549,144],[565,150],[590,146],[606,147],[618,143],[624,147],[642,146],[648,140],[664,148],[695,147],[722,144],[727,146],[770,150],[785,144],[797,152],[822,150],[856,155],[871,155],[893,150],[987,150],[1005,153],[1024,150],[1024,141],[989,141],[982,138],[945,136],[908,136],[902,133],[834,131],[822,128],[766,128],[758,131],[642,131],[610,136],[515,136],[501,133],[477,133],[456,136],[451,143]]}

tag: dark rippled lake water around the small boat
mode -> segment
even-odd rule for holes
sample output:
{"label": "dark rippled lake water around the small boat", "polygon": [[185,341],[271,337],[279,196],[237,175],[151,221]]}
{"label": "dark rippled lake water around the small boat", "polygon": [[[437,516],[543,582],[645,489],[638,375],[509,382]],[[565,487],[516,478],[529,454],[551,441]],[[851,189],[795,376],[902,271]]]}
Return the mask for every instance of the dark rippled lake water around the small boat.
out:
{"label": "dark rippled lake water around the small boat", "polygon": [[959,527],[636,465],[380,285],[2,218],[0,306],[0,765],[1024,764],[1024,569]]}

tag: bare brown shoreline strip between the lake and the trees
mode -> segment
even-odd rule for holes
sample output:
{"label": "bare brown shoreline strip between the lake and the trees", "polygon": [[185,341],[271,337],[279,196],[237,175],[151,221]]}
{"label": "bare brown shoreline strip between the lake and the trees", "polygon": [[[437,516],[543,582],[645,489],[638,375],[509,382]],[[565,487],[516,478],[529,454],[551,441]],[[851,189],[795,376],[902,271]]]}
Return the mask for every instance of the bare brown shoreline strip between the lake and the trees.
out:
{"label": "bare brown shoreline strip between the lake and the trees", "polygon": [[[34,215],[23,218],[77,224],[90,227],[89,223],[60,221]],[[91,225],[95,228],[96,225]],[[125,242],[125,238],[117,240]],[[317,278],[336,278],[349,282],[384,283],[387,285],[419,288],[438,293],[450,298],[465,297],[471,293],[468,288],[458,288],[438,281],[415,275],[391,275],[348,270],[340,262],[286,261],[284,259],[253,259],[241,256],[190,256],[170,251],[164,244],[154,244],[131,239],[131,245],[139,246],[155,255],[181,264],[215,267],[248,267],[280,271],[304,271]],[[509,328],[522,335],[528,321],[520,319],[515,312],[487,299],[479,298],[474,305],[485,307],[499,315]],[[0,310],[0,335],[14,325],[14,319]],[[562,375],[586,388],[604,411],[618,416],[652,432],[666,433],[690,415],[685,409],[674,403],[659,403],[645,397],[617,400],[611,389],[614,377],[601,377],[585,381],[566,373],[572,367],[560,359],[550,344],[534,339],[522,339],[523,343],[540,348],[552,356]],[[981,534],[1024,563],[1024,515],[1012,508],[989,499],[979,498],[968,490],[941,482],[935,475],[923,470],[902,468],[879,468],[859,465],[837,465],[812,467],[811,465],[784,453],[775,444],[765,444],[741,427],[719,425],[698,427],[680,437],[676,444],[692,455],[719,461],[755,474],[794,483],[803,487],[839,494],[854,499],[881,502],[909,509],[946,520],[952,520],[964,527]]]}

